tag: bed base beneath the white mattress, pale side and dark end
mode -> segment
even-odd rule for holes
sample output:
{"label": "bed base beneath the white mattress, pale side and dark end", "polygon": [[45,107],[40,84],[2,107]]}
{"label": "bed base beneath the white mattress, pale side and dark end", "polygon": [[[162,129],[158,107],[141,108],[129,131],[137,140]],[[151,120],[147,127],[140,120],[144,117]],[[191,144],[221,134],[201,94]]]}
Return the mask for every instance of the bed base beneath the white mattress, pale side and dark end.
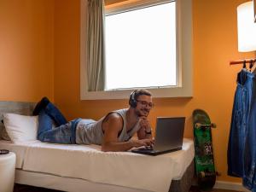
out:
{"label": "bed base beneath the white mattress, pale side and dark end", "polygon": [[[192,161],[181,179],[172,180],[169,191],[188,192],[192,184],[194,172],[194,161]],[[15,183],[70,192],[149,192],[148,190],[143,189],[127,188],[104,183],[94,183],[79,178],[60,177],[40,172],[28,172],[20,169],[16,169],[15,171]]]}

